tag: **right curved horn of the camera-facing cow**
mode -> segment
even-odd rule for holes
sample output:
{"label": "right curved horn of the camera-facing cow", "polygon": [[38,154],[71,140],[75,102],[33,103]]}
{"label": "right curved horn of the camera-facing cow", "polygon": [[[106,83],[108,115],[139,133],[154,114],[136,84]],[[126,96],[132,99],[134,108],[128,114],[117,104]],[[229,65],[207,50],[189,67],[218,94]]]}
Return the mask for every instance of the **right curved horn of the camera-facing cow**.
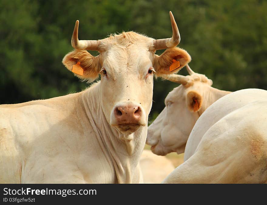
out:
{"label": "right curved horn of the camera-facing cow", "polygon": [[154,40],[155,50],[175,47],[180,43],[181,38],[180,38],[179,29],[178,29],[178,26],[174,20],[174,17],[171,11],[170,11],[170,17],[171,17],[172,37]]}

